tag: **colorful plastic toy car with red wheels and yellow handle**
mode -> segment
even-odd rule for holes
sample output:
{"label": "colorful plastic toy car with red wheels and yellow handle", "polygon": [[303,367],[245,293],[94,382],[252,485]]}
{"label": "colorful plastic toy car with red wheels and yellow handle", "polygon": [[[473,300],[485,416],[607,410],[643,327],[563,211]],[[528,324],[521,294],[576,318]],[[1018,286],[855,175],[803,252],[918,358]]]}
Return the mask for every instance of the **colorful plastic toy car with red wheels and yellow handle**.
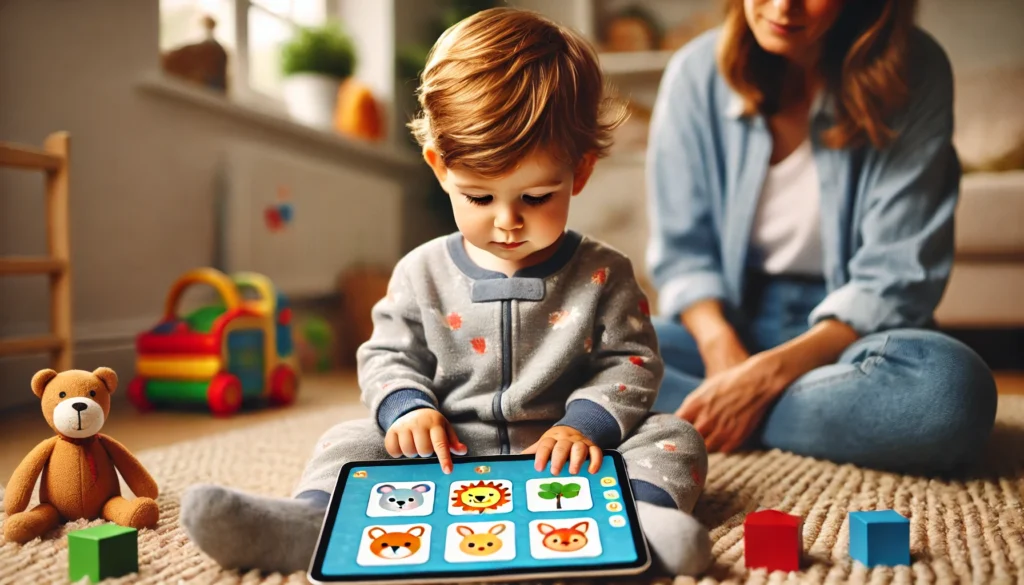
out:
{"label": "colorful plastic toy car with red wheels and yellow handle", "polygon": [[[196,284],[212,286],[223,302],[179,317],[178,300]],[[206,405],[216,416],[230,416],[244,403],[291,404],[298,390],[292,309],[270,280],[255,273],[186,273],[171,288],[161,322],[135,345],[128,399],[143,412]]]}

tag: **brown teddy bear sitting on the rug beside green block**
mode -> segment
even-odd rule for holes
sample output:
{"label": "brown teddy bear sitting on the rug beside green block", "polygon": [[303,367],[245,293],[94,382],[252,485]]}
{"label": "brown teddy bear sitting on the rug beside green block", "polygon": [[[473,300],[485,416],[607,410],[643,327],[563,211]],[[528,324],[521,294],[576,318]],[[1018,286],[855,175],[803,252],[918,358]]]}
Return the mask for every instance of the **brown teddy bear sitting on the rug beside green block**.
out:
{"label": "brown teddy bear sitting on the rug beside green block", "polygon": [[[157,483],[128,449],[99,432],[117,387],[118,375],[110,368],[59,374],[47,369],[32,377],[32,391],[56,436],[37,445],[7,484],[7,541],[24,544],[62,521],[82,518],[102,517],[135,529],[157,525]],[[121,496],[118,471],[134,499]],[[26,511],[40,474],[40,504]]]}

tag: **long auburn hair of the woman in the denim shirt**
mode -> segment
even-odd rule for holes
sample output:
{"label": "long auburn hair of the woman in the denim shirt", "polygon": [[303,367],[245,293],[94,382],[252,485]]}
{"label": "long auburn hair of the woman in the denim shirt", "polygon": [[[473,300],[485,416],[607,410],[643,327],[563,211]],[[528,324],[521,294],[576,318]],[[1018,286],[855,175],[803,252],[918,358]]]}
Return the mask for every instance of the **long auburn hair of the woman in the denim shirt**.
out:
{"label": "long auburn hair of the woman in the denim shirt", "polygon": [[[836,96],[836,125],[822,138],[831,148],[876,148],[894,136],[887,126],[907,99],[906,55],[918,0],[849,0],[822,39],[819,67]],[[770,116],[779,109],[785,58],[754,38],[743,0],[726,0],[718,61],[743,96],[744,113]]]}

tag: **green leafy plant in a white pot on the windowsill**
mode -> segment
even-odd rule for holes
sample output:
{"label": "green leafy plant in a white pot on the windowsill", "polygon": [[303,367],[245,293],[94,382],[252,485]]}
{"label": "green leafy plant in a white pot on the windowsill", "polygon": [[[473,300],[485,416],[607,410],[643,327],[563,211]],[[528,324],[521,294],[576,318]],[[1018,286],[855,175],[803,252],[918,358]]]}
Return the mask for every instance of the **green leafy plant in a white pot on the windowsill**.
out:
{"label": "green leafy plant in a white pot on the windowsill", "polygon": [[321,128],[331,128],[341,83],[355,69],[355,48],[339,26],[301,28],[281,55],[289,114]]}

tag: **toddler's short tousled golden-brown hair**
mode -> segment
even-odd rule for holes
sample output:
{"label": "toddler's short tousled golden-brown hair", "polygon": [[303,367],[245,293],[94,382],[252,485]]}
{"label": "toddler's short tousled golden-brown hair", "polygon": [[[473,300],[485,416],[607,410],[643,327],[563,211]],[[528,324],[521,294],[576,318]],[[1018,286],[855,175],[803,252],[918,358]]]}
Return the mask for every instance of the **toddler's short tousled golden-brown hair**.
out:
{"label": "toddler's short tousled golden-brown hair", "polygon": [[430,50],[409,124],[445,166],[484,176],[539,148],[575,166],[607,155],[625,108],[605,92],[594,49],[530,11],[490,8],[445,31]]}

